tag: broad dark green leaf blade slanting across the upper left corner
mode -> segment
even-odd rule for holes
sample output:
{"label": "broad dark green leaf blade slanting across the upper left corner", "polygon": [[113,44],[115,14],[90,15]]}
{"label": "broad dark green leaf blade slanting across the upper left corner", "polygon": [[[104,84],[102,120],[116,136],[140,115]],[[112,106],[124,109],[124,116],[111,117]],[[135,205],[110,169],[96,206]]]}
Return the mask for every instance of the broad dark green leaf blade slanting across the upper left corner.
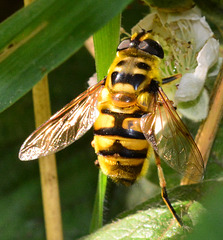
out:
{"label": "broad dark green leaf blade slanting across the upper left corner", "polygon": [[70,57],[130,1],[37,0],[3,22],[0,111]]}

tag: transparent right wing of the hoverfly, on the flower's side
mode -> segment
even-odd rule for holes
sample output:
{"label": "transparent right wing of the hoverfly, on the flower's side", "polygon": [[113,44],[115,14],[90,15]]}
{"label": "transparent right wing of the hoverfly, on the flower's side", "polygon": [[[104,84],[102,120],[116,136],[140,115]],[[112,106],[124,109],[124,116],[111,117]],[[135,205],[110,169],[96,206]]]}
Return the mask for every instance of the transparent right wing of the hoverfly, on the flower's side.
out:
{"label": "transparent right wing of the hoverfly, on the flower's side", "polygon": [[[157,96],[155,96],[157,98]],[[200,151],[162,88],[154,100],[154,113],[141,119],[146,139],[161,159],[190,182],[199,182],[204,174]]]}

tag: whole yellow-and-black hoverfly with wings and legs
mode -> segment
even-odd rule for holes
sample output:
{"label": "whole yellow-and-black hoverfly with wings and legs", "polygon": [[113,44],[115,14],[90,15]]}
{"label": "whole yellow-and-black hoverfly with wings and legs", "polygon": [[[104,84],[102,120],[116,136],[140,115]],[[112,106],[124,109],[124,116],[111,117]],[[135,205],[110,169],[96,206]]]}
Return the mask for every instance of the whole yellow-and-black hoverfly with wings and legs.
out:
{"label": "whole yellow-and-black hoverfly with wings and legs", "polygon": [[96,164],[115,182],[133,184],[148,168],[154,150],[161,195],[182,225],[166,192],[161,160],[194,182],[202,179],[202,156],[161,86],[161,45],[150,32],[123,40],[108,75],[88,88],[34,131],[20,149],[21,160],[57,152],[94,125]]}

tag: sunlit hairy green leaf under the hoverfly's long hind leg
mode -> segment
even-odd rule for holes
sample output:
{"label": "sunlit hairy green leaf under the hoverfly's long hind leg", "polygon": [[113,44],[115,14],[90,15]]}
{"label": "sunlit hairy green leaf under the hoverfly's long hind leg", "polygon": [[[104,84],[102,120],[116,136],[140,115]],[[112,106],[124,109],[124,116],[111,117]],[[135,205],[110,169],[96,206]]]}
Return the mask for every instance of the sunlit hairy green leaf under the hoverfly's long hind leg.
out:
{"label": "sunlit hairy green leaf under the hoverfly's long hind leg", "polygon": [[213,188],[218,189],[220,186],[222,186],[222,182],[207,181],[202,184],[180,186],[169,191],[170,201],[184,222],[182,228],[173,219],[172,214],[162,202],[161,196],[156,196],[120,215],[116,221],[84,239],[173,240],[183,238],[206,211],[203,199],[213,192]]}

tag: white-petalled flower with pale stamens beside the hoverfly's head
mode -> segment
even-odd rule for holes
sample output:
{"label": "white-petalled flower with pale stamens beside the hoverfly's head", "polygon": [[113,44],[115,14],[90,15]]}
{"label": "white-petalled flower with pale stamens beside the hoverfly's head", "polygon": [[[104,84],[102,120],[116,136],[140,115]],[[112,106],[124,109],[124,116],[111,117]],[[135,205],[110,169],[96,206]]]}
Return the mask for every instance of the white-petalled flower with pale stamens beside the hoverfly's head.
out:
{"label": "white-petalled flower with pale stamens beside the hoverfly's head", "polygon": [[[132,32],[152,30],[163,47],[165,57],[162,78],[181,73],[178,87],[163,85],[171,100],[184,116],[200,121],[207,116],[209,96],[204,91],[208,70],[217,62],[219,43],[213,37],[205,17],[198,8],[181,13],[154,11],[141,20]],[[186,102],[186,103],[185,103]]]}

